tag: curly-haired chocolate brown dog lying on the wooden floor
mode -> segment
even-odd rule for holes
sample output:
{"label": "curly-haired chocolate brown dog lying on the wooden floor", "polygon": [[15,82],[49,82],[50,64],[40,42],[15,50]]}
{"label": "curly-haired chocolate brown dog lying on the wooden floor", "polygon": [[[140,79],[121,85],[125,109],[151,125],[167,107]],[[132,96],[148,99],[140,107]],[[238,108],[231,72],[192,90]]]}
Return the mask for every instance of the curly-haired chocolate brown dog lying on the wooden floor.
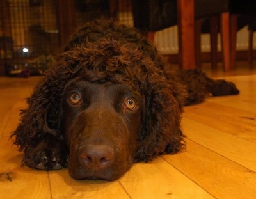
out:
{"label": "curly-haired chocolate brown dog lying on the wooden floor", "polygon": [[239,90],[197,70],[166,72],[165,64],[133,28],[112,20],[79,28],[12,132],[22,163],[68,167],[74,179],[116,180],[132,163],[184,150],[182,107]]}

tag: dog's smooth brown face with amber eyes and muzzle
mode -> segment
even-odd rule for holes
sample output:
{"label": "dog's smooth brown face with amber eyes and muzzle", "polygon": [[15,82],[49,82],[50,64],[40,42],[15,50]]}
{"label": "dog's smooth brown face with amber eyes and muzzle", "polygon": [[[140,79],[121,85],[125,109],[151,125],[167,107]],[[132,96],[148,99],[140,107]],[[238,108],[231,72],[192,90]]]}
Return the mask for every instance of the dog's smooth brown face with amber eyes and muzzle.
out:
{"label": "dog's smooth brown face with amber eyes and muzzle", "polygon": [[142,111],[143,97],[125,84],[70,81],[62,120],[70,175],[115,180],[124,174],[138,148]]}

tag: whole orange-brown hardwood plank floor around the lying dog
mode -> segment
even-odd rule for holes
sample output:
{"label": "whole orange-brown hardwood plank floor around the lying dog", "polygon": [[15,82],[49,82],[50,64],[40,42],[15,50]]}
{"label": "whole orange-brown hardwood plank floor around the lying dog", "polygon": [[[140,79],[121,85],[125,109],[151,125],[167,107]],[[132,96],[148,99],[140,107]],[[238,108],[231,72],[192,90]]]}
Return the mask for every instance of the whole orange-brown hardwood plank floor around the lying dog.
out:
{"label": "whole orange-brown hardwood plank floor around the lying dog", "polygon": [[0,77],[0,198],[256,198],[256,70],[241,66],[206,70],[233,81],[241,93],[185,107],[186,152],[134,164],[114,182],[20,166],[22,152],[9,136],[41,77]]}

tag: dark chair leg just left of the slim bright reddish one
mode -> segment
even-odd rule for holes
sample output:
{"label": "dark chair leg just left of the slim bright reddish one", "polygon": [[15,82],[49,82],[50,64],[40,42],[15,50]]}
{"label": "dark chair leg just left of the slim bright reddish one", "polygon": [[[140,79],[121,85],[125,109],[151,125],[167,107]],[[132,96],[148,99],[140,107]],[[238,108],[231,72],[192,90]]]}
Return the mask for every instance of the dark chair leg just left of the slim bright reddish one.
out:
{"label": "dark chair leg just left of the slim bright reddish one", "polygon": [[218,63],[218,16],[210,17],[211,67],[217,69]]}

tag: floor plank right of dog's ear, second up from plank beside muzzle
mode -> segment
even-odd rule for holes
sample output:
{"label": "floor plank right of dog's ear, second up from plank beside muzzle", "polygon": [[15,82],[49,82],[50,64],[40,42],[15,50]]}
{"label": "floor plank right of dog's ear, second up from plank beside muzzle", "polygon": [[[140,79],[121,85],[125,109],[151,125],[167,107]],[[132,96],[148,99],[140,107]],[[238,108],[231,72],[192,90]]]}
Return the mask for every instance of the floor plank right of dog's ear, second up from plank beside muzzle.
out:
{"label": "floor plank right of dog's ear, second up from plank beside muzzle", "polygon": [[256,172],[255,143],[186,117],[182,119],[182,127],[189,139]]}

